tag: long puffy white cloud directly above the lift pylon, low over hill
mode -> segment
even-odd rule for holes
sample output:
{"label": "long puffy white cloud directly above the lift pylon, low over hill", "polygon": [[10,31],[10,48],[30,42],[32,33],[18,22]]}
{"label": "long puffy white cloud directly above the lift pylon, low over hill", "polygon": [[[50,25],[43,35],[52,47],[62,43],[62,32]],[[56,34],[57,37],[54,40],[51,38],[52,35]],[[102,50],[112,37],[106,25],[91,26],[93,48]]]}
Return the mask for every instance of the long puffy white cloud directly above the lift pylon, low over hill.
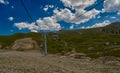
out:
{"label": "long puffy white cloud directly above the lift pylon, low over hill", "polygon": [[39,30],[60,30],[61,26],[52,17],[45,17],[38,19],[35,23],[20,22],[15,23],[15,27],[21,29],[29,29],[32,32],[38,32]]}

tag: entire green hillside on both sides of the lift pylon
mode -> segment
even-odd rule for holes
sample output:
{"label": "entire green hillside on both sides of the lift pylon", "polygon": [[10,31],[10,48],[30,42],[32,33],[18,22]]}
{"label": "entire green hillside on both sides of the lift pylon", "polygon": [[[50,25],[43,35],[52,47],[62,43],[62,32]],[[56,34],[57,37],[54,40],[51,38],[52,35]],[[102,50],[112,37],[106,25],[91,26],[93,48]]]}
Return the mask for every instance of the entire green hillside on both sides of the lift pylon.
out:
{"label": "entire green hillside on both sides of the lift pylon", "polygon": [[[116,27],[117,26],[117,27]],[[75,49],[78,53],[86,53],[89,57],[117,56],[120,57],[120,23],[113,23],[103,28],[64,30],[47,34],[49,53],[70,52]],[[113,28],[112,28],[113,27]],[[114,32],[114,33],[113,33]],[[117,33],[116,33],[117,32]],[[16,33],[11,36],[0,36],[0,44],[3,47],[11,46],[16,39],[31,37],[43,43],[41,34]]]}

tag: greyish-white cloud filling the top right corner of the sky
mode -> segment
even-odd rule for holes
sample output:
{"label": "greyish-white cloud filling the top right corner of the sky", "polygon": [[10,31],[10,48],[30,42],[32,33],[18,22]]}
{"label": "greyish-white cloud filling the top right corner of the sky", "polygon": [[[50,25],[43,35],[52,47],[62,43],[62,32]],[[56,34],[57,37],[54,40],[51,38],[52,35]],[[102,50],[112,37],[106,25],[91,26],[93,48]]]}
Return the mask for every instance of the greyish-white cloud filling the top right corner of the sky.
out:
{"label": "greyish-white cloud filling the top right corner of the sky", "polygon": [[105,12],[115,12],[120,10],[120,0],[105,0],[104,1]]}

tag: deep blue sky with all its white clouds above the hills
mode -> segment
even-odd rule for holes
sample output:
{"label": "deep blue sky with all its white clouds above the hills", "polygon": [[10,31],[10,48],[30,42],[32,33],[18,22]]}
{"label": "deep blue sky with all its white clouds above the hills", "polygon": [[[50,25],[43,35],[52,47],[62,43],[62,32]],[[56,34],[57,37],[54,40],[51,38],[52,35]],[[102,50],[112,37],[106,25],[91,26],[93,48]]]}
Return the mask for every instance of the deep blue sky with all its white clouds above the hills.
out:
{"label": "deep blue sky with all its white clouds above the hills", "polygon": [[[120,0],[0,0],[0,35],[75,30],[120,22]],[[30,18],[31,17],[31,18]]]}

